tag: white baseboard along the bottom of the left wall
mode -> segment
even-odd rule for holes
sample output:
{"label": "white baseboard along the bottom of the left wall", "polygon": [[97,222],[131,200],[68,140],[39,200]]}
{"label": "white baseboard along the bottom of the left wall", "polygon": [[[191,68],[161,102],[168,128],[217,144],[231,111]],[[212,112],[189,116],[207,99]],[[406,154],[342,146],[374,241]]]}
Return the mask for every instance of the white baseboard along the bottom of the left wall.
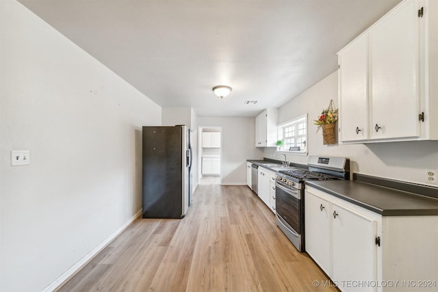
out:
{"label": "white baseboard along the bottom of the left wall", "polygon": [[75,263],[75,265],[70,267],[70,269],[65,271],[64,274],[62,274],[59,278],[57,278],[55,280],[55,282],[51,283],[49,285],[49,287],[44,289],[43,292],[54,291],[55,289],[60,287],[62,284],[64,284],[65,282],[67,282],[68,280],[73,278],[73,276],[75,276],[75,274],[77,274],[77,272],[80,271],[83,266],[88,264],[94,258],[94,256],[96,256],[97,254],[99,254],[99,252],[101,252],[101,250],[106,248],[107,245],[109,245],[111,243],[111,241],[113,241],[116,237],[118,237],[118,235],[120,235],[120,233],[122,233],[123,230],[128,228],[128,226],[131,225],[134,221],[136,221],[137,218],[140,217],[141,215],[142,215],[142,210],[140,209],[140,211],[138,211],[136,213],[136,215],[133,215],[133,217],[131,217],[131,219],[129,219],[127,222],[125,222],[125,224],[120,226],[120,228],[118,228],[116,231],[114,231],[114,233],[112,233],[109,237],[107,237],[99,245],[97,245],[90,252],[88,252],[88,254],[86,254],[86,256],[83,256],[83,258],[81,258],[77,263]]}

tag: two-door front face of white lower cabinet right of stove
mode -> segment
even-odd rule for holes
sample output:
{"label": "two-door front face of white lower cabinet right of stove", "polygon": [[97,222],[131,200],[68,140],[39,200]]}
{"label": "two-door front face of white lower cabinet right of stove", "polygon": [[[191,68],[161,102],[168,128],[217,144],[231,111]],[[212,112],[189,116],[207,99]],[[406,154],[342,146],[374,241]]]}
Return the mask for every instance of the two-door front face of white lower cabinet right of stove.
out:
{"label": "two-door front face of white lower cabinet right of stove", "polygon": [[[378,217],[306,186],[306,251],[341,291],[377,291]],[[352,205],[352,204],[351,204]],[[364,210],[365,211],[365,210]]]}

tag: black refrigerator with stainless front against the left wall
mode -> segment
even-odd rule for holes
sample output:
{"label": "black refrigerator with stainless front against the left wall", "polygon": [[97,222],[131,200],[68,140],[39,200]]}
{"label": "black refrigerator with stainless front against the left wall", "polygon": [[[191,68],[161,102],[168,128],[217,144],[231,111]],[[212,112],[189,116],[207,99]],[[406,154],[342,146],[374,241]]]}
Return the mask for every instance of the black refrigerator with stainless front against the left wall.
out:
{"label": "black refrigerator with stainless front against the left wall", "polygon": [[192,148],[186,126],[143,127],[143,218],[183,218],[190,204]]}

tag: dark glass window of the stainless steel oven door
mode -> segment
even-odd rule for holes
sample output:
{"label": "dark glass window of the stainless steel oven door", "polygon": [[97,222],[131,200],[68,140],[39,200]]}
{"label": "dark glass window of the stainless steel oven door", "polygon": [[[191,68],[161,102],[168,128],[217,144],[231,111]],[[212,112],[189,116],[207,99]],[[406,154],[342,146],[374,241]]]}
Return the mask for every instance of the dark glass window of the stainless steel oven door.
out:
{"label": "dark glass window of the stainless steel oven door", "polygon": [[[291,192],[294,192],[291,190]],[[287,193],[280,187],[275,188],[275,209],[294,230],[301,234],[300,228],[300,200]]]}

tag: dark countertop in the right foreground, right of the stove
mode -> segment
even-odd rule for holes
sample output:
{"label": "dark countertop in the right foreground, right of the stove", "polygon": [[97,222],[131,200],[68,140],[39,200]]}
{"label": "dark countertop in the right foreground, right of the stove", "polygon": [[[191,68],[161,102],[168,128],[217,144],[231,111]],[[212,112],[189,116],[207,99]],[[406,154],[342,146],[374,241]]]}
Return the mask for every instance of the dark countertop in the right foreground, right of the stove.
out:
{"label": "dark countertop in the right foreground, right of the stove", "polygon": [[383,216],[438,215],[438,199],[407,191],[361,181],[306,181],[306,185]]}

